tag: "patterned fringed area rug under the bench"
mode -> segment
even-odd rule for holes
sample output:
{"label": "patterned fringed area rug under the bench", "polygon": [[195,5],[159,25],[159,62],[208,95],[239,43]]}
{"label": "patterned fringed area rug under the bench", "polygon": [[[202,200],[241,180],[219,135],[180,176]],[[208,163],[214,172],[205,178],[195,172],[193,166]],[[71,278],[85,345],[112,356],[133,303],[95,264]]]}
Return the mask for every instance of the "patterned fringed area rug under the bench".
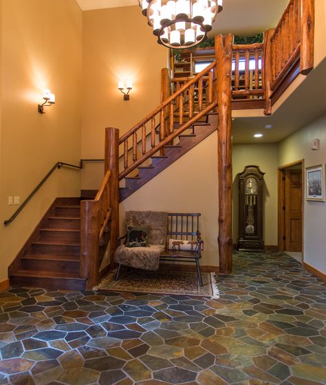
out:
{"label": "patterned fringed area rug under the bench", "polygon": [[[123,273],[122,273],[123,274]],[[177,294],[186,296],[204,296],[219,298],[214,273],[202,273],[204,286],[200,287],[197,273],[193,272],[148,272],[131,270],[116,281],[116,274],[109,274],[102,279],[98,289],[110,289],[118,292],[140,292],[151,294]]]}

